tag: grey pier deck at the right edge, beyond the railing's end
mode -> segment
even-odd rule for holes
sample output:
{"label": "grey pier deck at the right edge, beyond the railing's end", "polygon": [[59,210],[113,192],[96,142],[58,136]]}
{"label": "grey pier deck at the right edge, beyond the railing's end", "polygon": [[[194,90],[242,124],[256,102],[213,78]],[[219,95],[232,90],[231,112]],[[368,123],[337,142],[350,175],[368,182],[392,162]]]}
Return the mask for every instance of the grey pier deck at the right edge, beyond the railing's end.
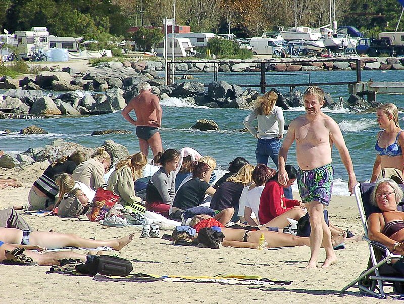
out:
{"label": "grey pier deck at the right edge, beyond the railing's end", "polygon": [[404,82],[362,81],[348,87],[349,94],[366,95],[368,102],[376,101],[377,94],[404,94]]}

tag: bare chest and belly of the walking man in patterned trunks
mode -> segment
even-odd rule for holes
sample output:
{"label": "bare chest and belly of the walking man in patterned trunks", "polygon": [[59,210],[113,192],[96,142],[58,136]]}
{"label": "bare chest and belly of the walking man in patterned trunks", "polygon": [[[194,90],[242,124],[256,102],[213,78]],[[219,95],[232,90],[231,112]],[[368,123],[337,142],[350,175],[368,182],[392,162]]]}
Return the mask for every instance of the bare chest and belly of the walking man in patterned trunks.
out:
{"label": "bare chest and belly of the walking man in patterned trunks", "polygon": [[315,120],[306,115],[292,122],[296,140],[297,163],[302,170],[319,168],[332,161],[332,133],[330,125],[336,124],[328,115],[321,113]]}

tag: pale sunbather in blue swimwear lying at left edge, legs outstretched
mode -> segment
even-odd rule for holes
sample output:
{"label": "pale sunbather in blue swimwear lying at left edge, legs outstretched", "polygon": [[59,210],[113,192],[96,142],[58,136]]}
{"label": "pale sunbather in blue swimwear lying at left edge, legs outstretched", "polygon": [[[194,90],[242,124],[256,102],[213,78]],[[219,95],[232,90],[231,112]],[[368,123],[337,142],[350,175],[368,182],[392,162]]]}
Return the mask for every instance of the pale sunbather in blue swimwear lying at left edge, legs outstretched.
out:
{"label": "pale sunbather in blue swimwear lying at left edge, legs outstretched", "polygon": [[64,234],[45,231],[28,231],[15,228],[0,227],[0,241],[8,244],[16,244],[15,247],[25,249],[37,249],[45,251],[46,249],[60,249],[64,247],[78,247],[84,249],[94,249],[97,247],[111,247],[114,250],[121,250],[129,244],[134,237],[130,235],[110,241],[99,241],[85,239],[76,234]]}

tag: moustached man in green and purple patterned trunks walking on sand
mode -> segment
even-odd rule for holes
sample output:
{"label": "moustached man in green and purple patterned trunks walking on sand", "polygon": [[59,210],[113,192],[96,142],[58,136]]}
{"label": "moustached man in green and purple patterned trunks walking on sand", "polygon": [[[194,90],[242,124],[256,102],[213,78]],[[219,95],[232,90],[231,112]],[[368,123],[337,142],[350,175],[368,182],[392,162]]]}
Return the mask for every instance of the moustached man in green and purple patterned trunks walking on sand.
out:
{"label": "moustached man in green and purple patterned trunks walking on sand", "polygon": [[307,268],[315,268],[320,245],[326,251],[322,267],[335,263],[337,257],[331,244],[331,232],[324,219],[324,208],[331,199],[334,169],[331,166],[332,146],[335,144],[348,172],[348,188],[352,194],[357,183],[354,166],[338,124],[321,111],[324,91],[310,86],[303,94],[306,114],[295,118],[289,125],[287,136],[279,150],[278,181],[286,186],[289,177],[285,170],[287,153],[296,141],[296,156],[299,165],[298,187],[310,216],[311,257]]}

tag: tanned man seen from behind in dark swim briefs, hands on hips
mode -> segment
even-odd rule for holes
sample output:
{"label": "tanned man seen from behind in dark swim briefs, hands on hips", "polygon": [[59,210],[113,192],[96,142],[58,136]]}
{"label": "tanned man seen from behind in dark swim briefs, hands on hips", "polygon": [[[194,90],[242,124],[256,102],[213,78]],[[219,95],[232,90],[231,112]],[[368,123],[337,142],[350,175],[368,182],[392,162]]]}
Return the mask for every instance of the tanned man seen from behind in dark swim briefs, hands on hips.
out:
{"label": "tanned man seen from behind in dark swim briefs, hands on hips", "polygon": [[[122,110],[122,116],[136,126],[136,136],[139,139],[140,151],[146,156],[151,148],[153,156],[163,151],[159,128],[161,126],[162,109],[159,97],[151,93],[151,86],[143,82],[139,86],[140,94],[134,97]],[[130,117],[130,111],[134,110],[136,120]]]}

